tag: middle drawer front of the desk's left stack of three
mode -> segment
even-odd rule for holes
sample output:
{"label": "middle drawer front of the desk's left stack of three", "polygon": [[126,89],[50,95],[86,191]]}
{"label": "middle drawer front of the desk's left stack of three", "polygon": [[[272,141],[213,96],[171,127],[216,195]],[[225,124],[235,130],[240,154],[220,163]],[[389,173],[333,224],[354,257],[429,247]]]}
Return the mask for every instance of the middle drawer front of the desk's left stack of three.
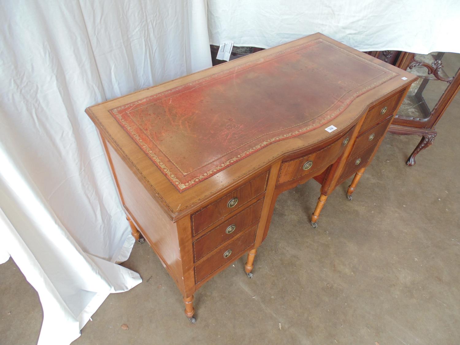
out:
{"label": "middle drawer front of the desk's left stack of three", "polygon": [[264,199],[255,202],[194,241],[192,243],[194,262],[219,247],[225,241],[246,230],[249,225],[259,221],[263,201]]}

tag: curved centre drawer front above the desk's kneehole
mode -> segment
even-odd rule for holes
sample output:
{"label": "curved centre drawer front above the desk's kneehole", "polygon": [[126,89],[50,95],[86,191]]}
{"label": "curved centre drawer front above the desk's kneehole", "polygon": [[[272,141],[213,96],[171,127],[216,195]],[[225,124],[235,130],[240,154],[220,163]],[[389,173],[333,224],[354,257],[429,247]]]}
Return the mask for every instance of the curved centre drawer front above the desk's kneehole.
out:
{"label": "curved centre drawer front above the desk's kneehole", "polygon": [[331,165],[339,158],[345,147],[349,145],[350,136],[351,131],[322,150],[282,163],[278,184],[309,174],[311,174],[311,177],[316,176],[317,173],[315,172]]}

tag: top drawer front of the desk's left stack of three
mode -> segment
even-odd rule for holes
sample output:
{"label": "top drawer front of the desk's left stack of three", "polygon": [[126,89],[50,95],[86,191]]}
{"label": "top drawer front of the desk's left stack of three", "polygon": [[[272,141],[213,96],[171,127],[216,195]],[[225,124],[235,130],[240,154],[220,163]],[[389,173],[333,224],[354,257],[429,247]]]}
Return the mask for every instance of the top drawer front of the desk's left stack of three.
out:
{"label": "top drawer front of the desk's left stack of three", "polygon": [[267,187],[267,178],[268,172],[265,172],[194,213],[192,215],[193,235],[197,235],[201,231],[206,230],[211,225],[218,222],[222,217],[225,217],[227,214],[244,206],[256,196],[264,193]]}

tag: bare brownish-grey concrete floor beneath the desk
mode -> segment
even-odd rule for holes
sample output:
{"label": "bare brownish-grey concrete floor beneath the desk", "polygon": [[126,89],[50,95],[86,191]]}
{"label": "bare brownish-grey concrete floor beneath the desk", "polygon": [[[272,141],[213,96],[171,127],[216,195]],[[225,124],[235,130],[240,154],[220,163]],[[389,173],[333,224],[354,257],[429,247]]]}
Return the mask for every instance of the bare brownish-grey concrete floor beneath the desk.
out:
{"label": "bare brownish-grey concrete floor beneath the desk", "polygon": [[[319,185],[283,193],[254,278],[242,258],[207,282],[195,295],[195,325],[160,260],[136,243],[123,265],[144,281],[111,294],[73,344],[457,344],[459,113],[457,96],[414,167],[405,161],[420,138],[388,134],[353,201],[347,181],[316,230]],[[11,259],[0,276],[0,344],[35,344],[35,290]]]}

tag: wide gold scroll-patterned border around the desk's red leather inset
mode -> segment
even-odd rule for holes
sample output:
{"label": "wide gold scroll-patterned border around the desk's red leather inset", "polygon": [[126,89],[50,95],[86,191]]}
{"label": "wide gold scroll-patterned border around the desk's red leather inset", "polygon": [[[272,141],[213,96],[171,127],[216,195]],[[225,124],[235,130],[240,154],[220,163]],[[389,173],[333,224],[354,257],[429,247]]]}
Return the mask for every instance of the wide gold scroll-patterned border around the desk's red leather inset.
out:
{"label": "wide gold scroll-patterned border around the desk's red leather inset", "polygon": [[[337,46],[334,46],[333,44],[327,42],[327,41],[324,41],[322,39],[317,39],[317,40],[314,40],[314,41],[311,41],[311,42],[307,42],[305,43],[304,45],[301,45],[301,46],[295,46],[295,47],[292,47],[292,48],[289,48],[287,50],[284,50],[284,51],[280,51],[280,52],[276,52],[274,54],[271,54],[267,57],[270,57],[270,56],[276,56],[276,55],[280,55],[280,54],[284,54],[286,53],[286,51],[291,51],[291,50],[300,50],[301,48],[305,48],[305,46],[311,46],[313,45],[316,41],[321,41],[322,43],[325,43],[326,45],[328,46],[331,46],[333,47],[334,49],[338,49],[342,52],[345,52],[347,53],[347,55],[350,54],[350,52],[346,51],[345,49],[343,48],[340,48],[340,47],[337,47]],[[319,42],[316,42],[316,44],[319,43]],[[238,67],[243,67],[243,66],[246,66],[246,65],[253,65],[255,62],[257,61],[263,61],[265,60],[267,57],[263,57],[263,58],[260,58],[258,60],[253,60],[253,61],[250,61],[248,63],[245,63],[245,64],[242,64]],[[372,63],[372,62],[369,62],[368,60],[364,59],[363,57],[360,57],[358,55],[354,55],[353,57],[355,58],[358,58],[366,63],[371,63],[372,65],[374,65],[373,67],[376,67],[377,69],[380,69],[380,70],[383,70],[383,71],[386,71],[388,72],[389,70],[376,64],[376,63]],[[121,110],[121,109],[125,109],[127,107],[133,107],[139,103],[142,103],[142,102],[145,102],[146,100],[148,99],[152,99],[152,98],[158,98],[160,96],[164,96],[165,94],[167,93],[171,93],[173,91],[177,91],[181,88],[184,88],[186,86],[190,86],[190,85],[194,85],[194,84],[197,84],[197,83],[200,83],[200,85],[202,85],[203,81],[207,81],[207,80],[210,80],[210,79],[213,79],[215,80],[216,76],[219,76],[219,75],[222,75],[222,74],[227,74],[228,73],[228,70],[226,71],[222,71],[222,72],[219,72],[217,74],[214,74],[214,75],[209,75],[208,77],[205,77],[205,78],[201,78],[201,79],[198,79],[196,81],[192,81],[190,83],[187,83],[187,84],[184,84],[182,86],[178,86],[176,88],[173,88],[173,89],[170,89],[170,90],[167,90],[165,92],[161,92],[161,93],[158,93],[158,94],[155,94],[155,95],[152,95],[152,96],[149,96],[149,97],[146,97],[146,98],[142,98],[142,99],[139,99],[135,102],[132,102],[132,103],[129,103],[129,104],[125,104],[125,105],[122,105],[120,107],[117,107],[117,108],[114,108],[114,109],[110,109],[109,112],[112,113],[112,115],[115,115],[116,116],[116,119],[124,126],[124,128],[130,133],[130,135],[132,136],[132,138],[134,138],[136,140],[136,142],[138,143],[138,145],[144,150],[145,153],[147,153],[149,155],[149,158],[150,160],[152,160],[158,167],[161,168],[161,171],[162,173],[173,183],[173,185],[176,187],[176,189],[178,189],[179,192],[183,191],[183,190],[186,190],[188,188],[190,188],[191,186],[193,186],[194,184],[198,183],[199,181],[201,181],[202,179],[206,179],[210,176],[212,176],[213,174],[217,173],[218,171],[220,170],[223,170],[224,167],[230,165],[230,164],[233,164],[234,162],[236,161],[239,161],[241,159],[243,159],[244,157],[246,157],[247,155],[250,155],[258,150],[261,150],[262,148],[264,148],[265,146],[268,146],[269,144],[273,144],[275,142],[278,142],[278,141],[281,141],[283,139],[287,139],[287,138],[292,138],[292,137],[295,137],[295,136],[299,136],[301,134],[304,134],[305,132],[308,132],[309,129],[311,129],[312,127],[318,127],[318,124],[315,124],[315,125],[310,125],[310,126],[307,126],[307,127],[304,127],[304,128],[301,128],[297,131],[294,131],[294,132],[290,132],[290,133],[286,133],[286,134],[282,134],[280,136],[276,136],[274,138],[270,138],[270,139],[267,139],[265,140],[264,142],[262,143],[259,143],[258,145],[254,146],[253,148],[249,149],[249,150],[246,150],[242,153],[240,153],[239,155],[236,155],[235,157],[232,157],[230,158],[229,160],[225,161],[224,163],[221,163],[219,164],[217,167],[213,167],[213,169],[210,169],[208,170],[207,172],[205,173],[202,173],[201,175],[195,177],[195,178],[192,178],[190,179],[189,181],[186,181],[186,182],[182,182],[180,181],[170,170],[169,168],[159,159],[159,157],[157,155],[155,155],[155,153],[147,146],[147,144],[145,144],[142,139],[134,132],[134,130],[127,124],[127,122],[121,117],[120,114],[118,114],[118,110]],[[382,83],[384,83],[385,81],[388,81],[390,80],[391,78],[393,78],[395,75],[397,75],[397,73],[395,72],[391,72],[390,74],[387,74],[385,78],[383,79],[380,79],[379,81],[376,81],[374,82],[373,84],[369,85],[369,86],[366,86],[365,88],[361,89],[360,91],[357,91],[355,93],[353,93],[353,95],[346,101],[346,103],[342,104],[338,109],[336,109],[332,114],[330,114],[328,117],[326,117],[324,120],[324,122],[322,123],[325,123],[326,121],[330,121],[330,120],[333,120],[337,115],[339,115],[342,110],[347,107],[349,104],[348,102],[351,100],[351,99],[355,99],[357,98],[358,96],[362,95],[364,92],[368,91],[369,89],[372,89],[374,88],[375,86],[377,85],[380,85]],[[320,125],[321,126],[321,125]],[[173,163],[174,164],[174,163]],[[175,165],[175,164],[174,164]],[[179,170],[179,169],[178,169]]]}

